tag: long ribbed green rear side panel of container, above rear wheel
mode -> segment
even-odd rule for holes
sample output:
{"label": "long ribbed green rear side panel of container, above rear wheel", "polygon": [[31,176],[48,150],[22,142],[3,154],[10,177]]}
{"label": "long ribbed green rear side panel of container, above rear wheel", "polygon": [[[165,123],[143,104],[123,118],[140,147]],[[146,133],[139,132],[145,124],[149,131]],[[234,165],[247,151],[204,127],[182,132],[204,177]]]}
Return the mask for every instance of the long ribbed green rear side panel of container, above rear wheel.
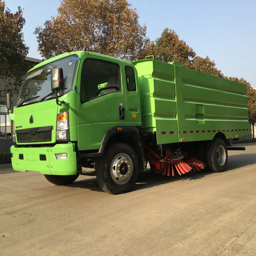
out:
{"label": "long ribbed green rear side panel of container, above rear wheel", "polygon": [[247,86],[175,66],[179,141],[248,134]]}

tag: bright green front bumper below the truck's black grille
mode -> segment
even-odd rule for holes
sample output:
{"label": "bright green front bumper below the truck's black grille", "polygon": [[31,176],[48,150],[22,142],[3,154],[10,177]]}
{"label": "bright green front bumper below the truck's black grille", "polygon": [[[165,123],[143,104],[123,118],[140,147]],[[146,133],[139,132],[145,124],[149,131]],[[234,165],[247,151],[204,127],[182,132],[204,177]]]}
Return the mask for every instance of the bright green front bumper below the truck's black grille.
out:
{"label": "bright green front bumper below the truck's black grille", "polygon": [[[37,171],[42,174],[74,175],[76,174],[75,144],[57,144],[45,148],[15,148],[11,147],[12,168],[15,171]],[[56,159],[55,154],[67,153],[68,158]],[[22,158],[23,154],[23,159]],[[21,155],[21,156],[20,156]],[[41,156],[40,160],[40,155]],[[44,160],[46,157],[46,160]]]}

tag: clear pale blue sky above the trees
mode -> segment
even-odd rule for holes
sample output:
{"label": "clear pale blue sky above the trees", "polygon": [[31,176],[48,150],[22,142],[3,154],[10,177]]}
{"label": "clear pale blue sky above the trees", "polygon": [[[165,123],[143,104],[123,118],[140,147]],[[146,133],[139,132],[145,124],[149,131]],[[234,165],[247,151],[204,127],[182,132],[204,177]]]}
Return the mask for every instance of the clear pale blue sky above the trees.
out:
{"label": "clear pale blue sky above the trees", "polygon": [[[244,77],[256,87],[256,1],[255,0],[128,0],[136,8],[142,25],[147,25],[151,40],[165,28],[201,57],[214,60],[225,76]],[[59,0],[5,0],[12,12],[21,6],[26,24],[23,28],[29,57],[41,59],[37,52],[36,26],[58,14]]]}

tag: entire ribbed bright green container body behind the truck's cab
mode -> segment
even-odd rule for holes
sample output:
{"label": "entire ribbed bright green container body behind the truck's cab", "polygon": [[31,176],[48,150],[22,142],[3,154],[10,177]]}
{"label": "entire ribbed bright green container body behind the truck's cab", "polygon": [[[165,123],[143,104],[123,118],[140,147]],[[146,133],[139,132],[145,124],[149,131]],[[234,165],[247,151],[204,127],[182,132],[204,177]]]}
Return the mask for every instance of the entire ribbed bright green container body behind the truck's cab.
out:
{"label": "entire ribbed bright green container body behind the truck's cab", "polygon": [[132,62],[140,84],[141,132],[156,132],[157,144],[212,140],[248,134],[247,86],[204,74],[180,63]]}

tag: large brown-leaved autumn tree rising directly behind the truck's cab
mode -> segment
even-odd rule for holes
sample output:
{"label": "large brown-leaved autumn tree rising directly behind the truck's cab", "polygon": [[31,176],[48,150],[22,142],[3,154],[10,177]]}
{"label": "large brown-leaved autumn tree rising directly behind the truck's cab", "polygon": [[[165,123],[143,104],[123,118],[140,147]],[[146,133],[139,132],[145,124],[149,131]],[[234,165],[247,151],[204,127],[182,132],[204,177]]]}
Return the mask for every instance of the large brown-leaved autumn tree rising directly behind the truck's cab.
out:
{"label": "large brown-leaved autumn tree rising directly behind the truck's cab", "polygon": [[58,15],[35,30],[38,50],[45,58],[84,48],[134,60],[148,41],[138,18],[127,0],[62,0]]}

